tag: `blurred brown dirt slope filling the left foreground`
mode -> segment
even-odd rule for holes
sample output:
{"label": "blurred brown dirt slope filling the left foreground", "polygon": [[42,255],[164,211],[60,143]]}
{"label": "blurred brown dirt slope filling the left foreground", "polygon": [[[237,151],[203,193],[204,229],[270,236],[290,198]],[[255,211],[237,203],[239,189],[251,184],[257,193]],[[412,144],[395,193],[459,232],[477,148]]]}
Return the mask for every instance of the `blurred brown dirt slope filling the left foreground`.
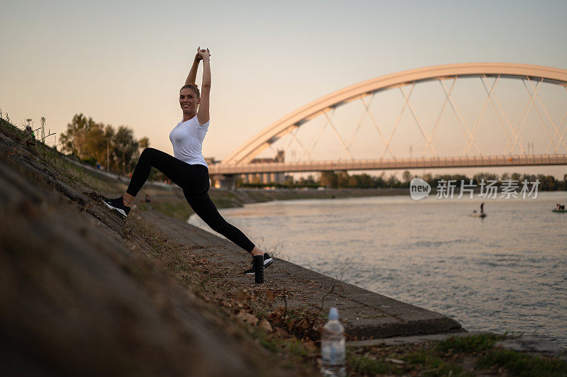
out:
{"label": "blurred brown dirt slope filling the left foreground", "polygon": [[0,374],[304,374],[152,257],[135,220],[0,128]]}

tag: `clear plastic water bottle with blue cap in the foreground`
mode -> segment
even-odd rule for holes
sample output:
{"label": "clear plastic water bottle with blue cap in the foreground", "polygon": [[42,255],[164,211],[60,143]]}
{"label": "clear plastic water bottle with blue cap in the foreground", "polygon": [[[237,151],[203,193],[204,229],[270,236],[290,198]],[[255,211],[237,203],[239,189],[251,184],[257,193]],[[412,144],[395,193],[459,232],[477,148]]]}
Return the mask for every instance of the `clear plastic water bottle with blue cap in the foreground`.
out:
{"label": "clear plastic water bottle with blue cap in the foreground", "polygon": [[344,327],[339,322],[339,310],[337,308],[329,310],[329,320],[323,327],[321,355],[321,373],[323,376],[345,376]]}

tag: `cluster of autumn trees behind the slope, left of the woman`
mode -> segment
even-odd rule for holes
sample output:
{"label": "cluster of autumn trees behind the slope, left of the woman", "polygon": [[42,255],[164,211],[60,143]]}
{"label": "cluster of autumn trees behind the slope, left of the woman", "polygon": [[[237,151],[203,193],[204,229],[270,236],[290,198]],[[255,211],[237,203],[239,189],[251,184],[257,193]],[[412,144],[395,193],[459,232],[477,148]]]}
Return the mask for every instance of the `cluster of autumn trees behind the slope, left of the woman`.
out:
{"label": "cluster of autumn trees behind the slope, left of the woman", "polygon": [[96,123],[82,113],[75,114],[67,130],[59,137],[61,150],[77,156],[82,162],[99,165],[118,174],[134,169],[140,151],[150,145],[147,137],[136,140],[128,126]]}

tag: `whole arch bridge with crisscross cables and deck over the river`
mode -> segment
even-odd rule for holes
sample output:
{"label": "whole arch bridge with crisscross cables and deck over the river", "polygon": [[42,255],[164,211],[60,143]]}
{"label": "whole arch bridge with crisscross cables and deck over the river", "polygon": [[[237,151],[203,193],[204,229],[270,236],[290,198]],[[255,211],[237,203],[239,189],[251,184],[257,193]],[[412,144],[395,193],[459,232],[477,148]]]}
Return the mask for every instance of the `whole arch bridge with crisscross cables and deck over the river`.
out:
{"label": "whole arch bridge with crisscross cables and deck over the river", "polygon": [[[478,112],[475,116],[468,116],[471,111],[466,111],[457,103],[455,94],[457,79],[481,81],[482,85],[478,87],[481,88],[484,98],[478,102],[475,108]],[[519,116],[515,118],[510,114],[510,109],[505,111],[506,101],[501,100],[496,92],[498,84],[510,81],[509,79],[523,84],[525,89],[522,99],[524,106],[512,106],[513,110],[517,111],[522,108],[522,111],[518,112]],[[442,103],[439,106],[439,113],[430,121],[425,121],[412,103],[412,94],[415,93],[416,86],[434,81],[439,83]],[[542,89],[545,87],[554,88],[548,106],[544,104],[544,96],[541,94],[541,91],[547,90]],[[386,94],[392,89],[400,91],[400,101],[403,103],[400,111],[397,112],[398,116],[386,124],[386,120],[371,111],[371,106],[377,94]],[[518,92],[517,89],[509,90],[511,96],[517,96]],[[559,94],[560,92],[567,94],[567,69],[532,64],[444,64],[388,74],[335,91],[276,120],[229,154],[223,162],[210,165],[210,174],[231,176],[294,171],[565,165],[567,164],[567,97],[561,97],[564,94]],[[347,125],[341,128],[333,115],[338,108],[355,101],[361,105],[359,108],[362,110],[362,116],[359,117],[358,122],[347,122]],[[489,108],[493,118],[491,122],[485,120]],[[555,113],[559,115],[556,116]],[[403,128],[401,124],[404,114],[412,119],[414,127],[411,131],[399,130]],[[445,131],[439,131],[447,116],[451,118],[449,127]],[[301,140],[299,132],[306,127],[314,129],[313,120],[317,119],[321,119],[323,123],[320,128],[321,133],[316,131],[310,141]],[[490,123],[490,127],[488,134],[479,136],[483,120],[485,123]],[[356,139],[363,124],[372,130],[372,137],[376,139],[372,142],[374,147],[371,147],[370,156],[366,154],[361,158],[355,157],[357,148],[353,140]],[[318,145],[318,137],[325,130],[334,135],[337,148],[333,152],[335,157],[321,159],[317,158],[314,151]],[[458,135],[454,134],[455,130],[459,130],[456,131]],[[347,133],[351,133],[351,137],[347,137]],[[452,142],[447,146],[445,140],[443,145],[444,133],[447,134],[446,139],[458,139],[461,142],[460,153],[454,153]],[[527,148],[524,148],[522,133],[537,139],[539,153],[534,153],[533,142],[531,152],[529,143]],[[402,138],[402,144],[404,140],[415,140],[415,137],[418,137],[420,140],[417,143],[422,146],[421,154],[413,157],[410,147],[409,157],[400,156],[399,150],[393,147],[396,135],[398,140]],[[301,158],[287,162],[254,160],[267,148],[274,150],[274,146],[284,137],[291,140],[290,143],[293,142],[296,150],[301,153]],[[488,145],[491,142],[494,145],[501,145],[502,152],[479,146],[481,143],[478,139],[482,137],[488,140]],[[366,135],[364,138],[367,138]],[[439,148],[438,144],[442,146]],[[451,152],[447,154],[444,150]]]}

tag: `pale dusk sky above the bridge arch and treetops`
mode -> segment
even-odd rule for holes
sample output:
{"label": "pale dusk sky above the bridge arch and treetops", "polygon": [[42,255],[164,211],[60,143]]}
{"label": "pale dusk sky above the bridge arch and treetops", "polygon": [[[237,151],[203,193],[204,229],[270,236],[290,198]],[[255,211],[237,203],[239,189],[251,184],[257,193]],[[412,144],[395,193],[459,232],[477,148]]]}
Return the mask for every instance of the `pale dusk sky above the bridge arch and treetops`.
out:
{"label": "pale dusk sky above the bridge arch and treetops", "polygon": [[223,159],[296,108],[384,74],[458,62],[567,69],[566,16],[566,1],[9,0],[0,108],[16,123],[45,116],[55,133],[84,113],[172,153],[179,87],[206,46],[203,154]]}

